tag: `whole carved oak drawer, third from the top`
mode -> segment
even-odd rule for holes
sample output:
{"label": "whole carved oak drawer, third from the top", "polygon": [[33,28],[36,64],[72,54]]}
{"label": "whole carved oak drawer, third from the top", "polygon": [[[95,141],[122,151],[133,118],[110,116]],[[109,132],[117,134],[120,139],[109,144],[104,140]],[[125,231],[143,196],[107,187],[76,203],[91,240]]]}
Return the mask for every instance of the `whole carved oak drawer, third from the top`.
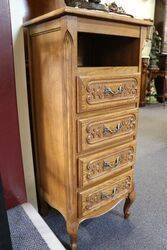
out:
{"label": "whole carved oak drawer, third from the top", "polygon": [[90,156],[80,157],[78,159],[79,186],[86,187],[133,166],[135,157],[135,142]]}

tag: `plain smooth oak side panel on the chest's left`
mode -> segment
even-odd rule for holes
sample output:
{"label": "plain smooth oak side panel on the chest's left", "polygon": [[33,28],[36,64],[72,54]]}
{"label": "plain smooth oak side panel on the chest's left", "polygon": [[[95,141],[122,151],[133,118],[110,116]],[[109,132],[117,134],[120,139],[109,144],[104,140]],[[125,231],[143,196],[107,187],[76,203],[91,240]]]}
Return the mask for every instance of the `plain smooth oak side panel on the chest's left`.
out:
{"label": "plain smooth oak side panel on the chest's left", "polygon": [[40,192],[45,201],[66,217],[62,46],[59,28],[31,37],[31,95]]}

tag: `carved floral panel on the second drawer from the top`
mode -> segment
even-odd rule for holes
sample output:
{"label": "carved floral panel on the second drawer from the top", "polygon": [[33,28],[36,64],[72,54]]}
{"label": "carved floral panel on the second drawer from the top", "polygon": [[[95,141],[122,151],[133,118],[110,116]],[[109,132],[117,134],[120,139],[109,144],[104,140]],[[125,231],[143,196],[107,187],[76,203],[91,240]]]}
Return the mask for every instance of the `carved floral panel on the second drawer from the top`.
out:
{"label": "carved floral panel on the second drawer from the top", "polygon": [[112,138],[120,133],[131,132],[135,129],[136,126],[136,116],[130,115],[126,118],[123,118],[118,123],[108,122],[100,124],[89,124],[86,128],[88,133],[87,142],[89,144],[94,143],[105,138]]}

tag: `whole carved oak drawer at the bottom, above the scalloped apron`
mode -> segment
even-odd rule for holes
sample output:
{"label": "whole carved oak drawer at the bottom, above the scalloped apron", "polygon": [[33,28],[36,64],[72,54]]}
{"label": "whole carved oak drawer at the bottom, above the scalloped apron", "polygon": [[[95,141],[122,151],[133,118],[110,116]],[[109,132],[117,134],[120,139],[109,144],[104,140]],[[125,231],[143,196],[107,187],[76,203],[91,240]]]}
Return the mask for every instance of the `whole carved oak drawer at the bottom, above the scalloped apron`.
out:
{"label": "whole carved oak drawer at the bottom, above the scalloped apron", "polygon": [[79,216],[86,216],[127,196],[133,187],[133,170],[79,193]]}

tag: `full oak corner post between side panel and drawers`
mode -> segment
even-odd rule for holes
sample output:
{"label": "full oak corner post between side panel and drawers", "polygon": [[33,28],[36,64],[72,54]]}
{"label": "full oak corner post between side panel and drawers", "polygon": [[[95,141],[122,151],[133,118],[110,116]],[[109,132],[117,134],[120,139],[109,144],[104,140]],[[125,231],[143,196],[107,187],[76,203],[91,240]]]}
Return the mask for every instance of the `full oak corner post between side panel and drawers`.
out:
{"label": "full oak corner post between side panel and drawers", "polygon": [[[76,168],[76,121],[74,114],[76,113],[76,86],[75,82],[75,65],[77,63],[77,19],[76,17],[68,17],[62,20],[64,29],[64,64],[63,64],[63,78],[66,86],[66,100],[63,105],[66,105],[66,138],[68,157],[66,158],[66,167],[68,166],[68,178],[65,184],[67,185],[67,225],[71,224],[72,232],[77,232],[78,220],[77,220],[77,168]],[[65,176],[67,173],[65,172]],[[70,226],[67,227],[71,228]],[[75,241],[76,234],[73,234]],[[73,244],[73,241],[72,241]],[[75,247],[75,244],[74,244]]]}

